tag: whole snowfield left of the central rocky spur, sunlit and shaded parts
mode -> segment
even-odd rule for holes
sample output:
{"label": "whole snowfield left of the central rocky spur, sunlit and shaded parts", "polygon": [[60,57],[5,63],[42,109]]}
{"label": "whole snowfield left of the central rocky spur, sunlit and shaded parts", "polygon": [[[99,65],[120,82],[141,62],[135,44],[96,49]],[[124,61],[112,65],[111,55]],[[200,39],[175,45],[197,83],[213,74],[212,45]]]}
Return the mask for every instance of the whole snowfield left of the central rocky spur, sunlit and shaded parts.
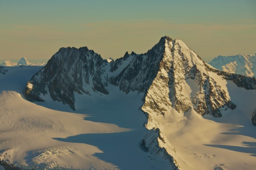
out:
{"label": "whole snowfield left of the central rocky spur, sunlit and shaded parts", "polygon": [[[17,93],[29,68],[34,74],[34,67],[8,68],[12,79],[0,74],[1,159],[30,169],[169,170],[168,161],[140,149],[147,133],[141,95],[109,87],[113,95],[79,95],[76,112],[51,100],[31,103]],[[13,79],[20,82],[12,86]]]}

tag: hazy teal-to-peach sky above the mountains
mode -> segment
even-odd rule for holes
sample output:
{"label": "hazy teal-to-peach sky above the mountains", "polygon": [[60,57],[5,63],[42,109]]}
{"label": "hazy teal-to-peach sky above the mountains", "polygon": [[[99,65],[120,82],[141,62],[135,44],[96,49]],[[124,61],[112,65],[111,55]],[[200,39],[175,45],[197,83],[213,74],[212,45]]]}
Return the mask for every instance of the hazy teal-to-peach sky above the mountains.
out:
{"label": "hazy teal-to-peach sky above the mountains", "polygon": [[165,35],[204,61],[256,53],[256,0],[0,0],[0,62],[47,62],[68,46],[116,59]]}

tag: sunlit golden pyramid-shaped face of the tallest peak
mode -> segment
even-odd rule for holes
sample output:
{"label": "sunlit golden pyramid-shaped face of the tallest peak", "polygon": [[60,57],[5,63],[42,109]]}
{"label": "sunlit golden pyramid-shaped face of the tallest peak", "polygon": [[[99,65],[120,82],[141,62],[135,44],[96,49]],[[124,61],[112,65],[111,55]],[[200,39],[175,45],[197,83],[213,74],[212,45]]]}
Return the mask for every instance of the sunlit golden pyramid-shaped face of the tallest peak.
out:
{"label": "sunlit golden pyramid-shaped face of the tallest peak", "polygon": [[[221,87],[221,82],[216,82],[218,76],[213,74],[194,51],[181,40],[169,37],[161,38],[159,48],[162,48],[163,42],[163,58],[160,60],[157,76],[148,90],[143,111],[165,114],[169,109],[175,108],[179,113],[184,113],[193,108],[198,114],[220,117],[220,107],[235,107],[230,102],[227,89]],[[151,111],[149,108],[154,109]]]}

